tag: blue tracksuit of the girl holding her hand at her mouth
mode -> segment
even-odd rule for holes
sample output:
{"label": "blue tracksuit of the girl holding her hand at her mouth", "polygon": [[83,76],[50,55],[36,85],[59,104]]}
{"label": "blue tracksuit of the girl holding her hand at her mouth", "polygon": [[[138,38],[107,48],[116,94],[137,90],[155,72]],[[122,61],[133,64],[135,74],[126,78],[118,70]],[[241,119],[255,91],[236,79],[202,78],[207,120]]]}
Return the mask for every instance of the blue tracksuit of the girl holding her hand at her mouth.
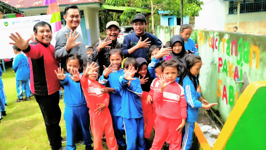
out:
{"label": "blue tracksuit of the girl holding her hand at her mouth", "polygon": [[100,76],[99,83],[106,85],[115,89],[115,92],[110,92],[110,102],[109,110],[112,115],[113,128],[115,133],[115,138],[119,146],[126,146],[126,141],[123,138],[125,135],[125,128],[123,118],[121,117],[121,101],[122,97],[119,93],[121,91],[121,86],[119,83],[119,77],[124,75],[124,70],[117,71],[116,73],[111,73],[106,79],[104,78],[104,71]]}

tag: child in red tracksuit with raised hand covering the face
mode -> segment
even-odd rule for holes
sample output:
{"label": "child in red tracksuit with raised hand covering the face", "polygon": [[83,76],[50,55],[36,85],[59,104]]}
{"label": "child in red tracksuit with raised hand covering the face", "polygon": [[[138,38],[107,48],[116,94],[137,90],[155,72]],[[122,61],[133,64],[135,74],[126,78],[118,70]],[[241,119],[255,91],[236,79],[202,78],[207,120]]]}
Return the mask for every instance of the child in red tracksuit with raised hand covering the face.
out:
{"label": "child in red tracksuit with raised hand covering the face", "polygon": [[[111,114],[108,109],[109,94],[102,93],[100,89],[104,88],[96,79],[98,78],[97,63],[88,63],[88,67],[80,82],[90,109],[91,129],[94,136],[94,150],[102,150],[101,138],[104,132],[106,143],[109,150],[118,150],[117,142],[114,136]],[[75,80],[75,81],[78,81]]]}

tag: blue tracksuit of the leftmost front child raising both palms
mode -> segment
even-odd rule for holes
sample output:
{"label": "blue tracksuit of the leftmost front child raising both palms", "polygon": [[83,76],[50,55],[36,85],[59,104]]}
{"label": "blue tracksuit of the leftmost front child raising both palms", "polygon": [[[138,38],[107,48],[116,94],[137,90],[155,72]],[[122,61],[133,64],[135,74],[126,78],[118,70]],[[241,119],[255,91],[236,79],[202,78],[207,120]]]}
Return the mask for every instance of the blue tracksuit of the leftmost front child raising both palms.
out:
{"label": "blue tracksuit of the leftmost front child raising both palms", "polygon": [[[90,133],[90,116],[80,83],[73,81],[66,74],[65,80],[60,80],[65,88],[64,102],[66,104],[64,118],[66,121],[66,148],[67,150],[76,150],[75,134],[77,126],[82,130],[84,143],[90,146],[93,141]],[[80,74],[82,75],[82,73]]]}

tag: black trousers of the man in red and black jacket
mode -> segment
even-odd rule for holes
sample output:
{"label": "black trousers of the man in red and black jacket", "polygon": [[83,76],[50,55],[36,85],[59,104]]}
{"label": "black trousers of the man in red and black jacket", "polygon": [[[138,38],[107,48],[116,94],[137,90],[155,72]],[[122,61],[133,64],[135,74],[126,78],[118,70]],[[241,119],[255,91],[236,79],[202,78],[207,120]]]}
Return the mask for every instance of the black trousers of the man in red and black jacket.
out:
{"label": "black trousers of the man in red and black jacket", "polygon": [[59,150],[61,143],[61,127],[59,122],[61,119],[61,110],[59,107],[59,91],[49,96],[34,95],[39,104],[44,123],[46,126],[46,133],[52,150]]}

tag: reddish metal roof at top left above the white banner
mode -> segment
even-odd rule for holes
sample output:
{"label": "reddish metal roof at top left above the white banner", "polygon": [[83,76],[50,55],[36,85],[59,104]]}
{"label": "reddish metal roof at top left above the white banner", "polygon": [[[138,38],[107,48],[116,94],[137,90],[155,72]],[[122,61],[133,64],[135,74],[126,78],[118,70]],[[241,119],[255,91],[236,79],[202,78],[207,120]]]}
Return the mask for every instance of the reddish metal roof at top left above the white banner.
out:
{"label": "reddish metal roof at top left above the white banner", "polygon": [[[41,7],[44,0],[0,0],[16,8]],[[59,5],[100,2],[99,0],[57,0]],[[48,6],[48,5],[47,5]]]}

